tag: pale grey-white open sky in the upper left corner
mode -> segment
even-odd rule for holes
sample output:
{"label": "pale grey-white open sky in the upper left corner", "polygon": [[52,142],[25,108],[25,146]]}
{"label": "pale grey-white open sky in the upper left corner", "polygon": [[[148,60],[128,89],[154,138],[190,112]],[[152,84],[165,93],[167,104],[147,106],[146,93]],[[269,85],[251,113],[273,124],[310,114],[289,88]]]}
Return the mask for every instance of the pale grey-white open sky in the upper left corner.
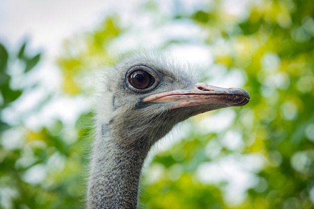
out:
{"label": "pale grey-white open sky in the upper left corner", "polygon": [[[136,5],[136,0],[132,4],[127,0],[118,1],[118,4],[132,6]],[[0,40],[16,46],[17,41],[28,37],[33,46],[54,55],[65,38],[92,29],[116,6],[117,1],[113,0],[2,0]]]}

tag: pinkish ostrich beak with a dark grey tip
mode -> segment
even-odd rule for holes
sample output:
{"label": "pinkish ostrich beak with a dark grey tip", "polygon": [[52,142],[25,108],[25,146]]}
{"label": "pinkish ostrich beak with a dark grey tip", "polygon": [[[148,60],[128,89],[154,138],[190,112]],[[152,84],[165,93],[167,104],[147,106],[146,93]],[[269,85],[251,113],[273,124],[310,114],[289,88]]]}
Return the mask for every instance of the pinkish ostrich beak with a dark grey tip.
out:
{"label": "pinkish ostrich beak with a dark grey tip", "polygon": [[171,109],[195,105],[217,104],[242,106],[250,101],[247,91],[239,88],[220,88],[206,83],[197,83],[192,89],[157,93],[145,97],[143,102],[173,103]]}

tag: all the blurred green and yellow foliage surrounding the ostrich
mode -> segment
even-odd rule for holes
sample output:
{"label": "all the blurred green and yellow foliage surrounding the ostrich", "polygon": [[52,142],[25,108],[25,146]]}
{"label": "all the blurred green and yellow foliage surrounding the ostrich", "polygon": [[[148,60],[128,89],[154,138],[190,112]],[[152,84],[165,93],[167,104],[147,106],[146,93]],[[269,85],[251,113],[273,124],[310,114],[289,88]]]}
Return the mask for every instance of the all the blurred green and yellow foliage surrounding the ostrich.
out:
{"label": "all the blurred green and yellow foliage surrounding the ostrich", "polygon": [[[154,1],[143,2],[140,7],[152,17],[162,14]],[[192,13],[180,8],[172,17],[156,23],[156,27],[189,20],[201,28],[202,36],[198,39],[213,49],[215,66],[226,69],[226,76],[238,69],[251,101],[241,108],[194,117],[189,124],[190,132],[158,153],[144,172],[142,206],[313,208],[314,4],[311,0],[250,1],[245,10],[247,14],[241,16],[226,13],[223,1],[211,1]],[[112,64],[108,49],[112,49],[112,43],[118,38],[127,36],[130,28],[123,28],[116,15],[107,17],[95,31],[66,40],[64,52],[57,59],[63,93],[88,98],[93,88],[86,78],[92,79],[88,75],[102,63]],[[172,38],[161,48],[183,43],[187,40]],[[24,43],[13,53],[0,45],[0,116],[26,91],[11,86],[11,64],[24,63],[23,72],[27,74],[41,58],[40,54],[26,55],[26,47]],[[218,113],[228,117],[235,113],[235,116],[226,128],[199,132],[198,126],[204,119]],[[82,113],[73,127],[56,119],[54,124],[39,131],[29,130],[23,123],[9,124],[1,118],[1,208],[84,208],[91,115]],[[13,132],[21,134],[19,145],[12,147],[8,145],[8,137],[18,137]],[[75,139],[67,140],[67,132],[74,133]],[[240,145],[232,147],[224,143],[229,133],[234,138],[239,136]],[[240,202],[228,200],[226,193],[238,195],[238,191],[230,191],[230,182],[206,182],[199,176],[200,167],[229,157],[243,164],[241,159],[249,156],[263,163],[256,169],[247,168],[255,181],[245,189]],[[36,172],[45,173],[41,181],[28,176]],[[229,175],[233,173],[229,171]],[[238,177],[234,175],[235,181]]]}

